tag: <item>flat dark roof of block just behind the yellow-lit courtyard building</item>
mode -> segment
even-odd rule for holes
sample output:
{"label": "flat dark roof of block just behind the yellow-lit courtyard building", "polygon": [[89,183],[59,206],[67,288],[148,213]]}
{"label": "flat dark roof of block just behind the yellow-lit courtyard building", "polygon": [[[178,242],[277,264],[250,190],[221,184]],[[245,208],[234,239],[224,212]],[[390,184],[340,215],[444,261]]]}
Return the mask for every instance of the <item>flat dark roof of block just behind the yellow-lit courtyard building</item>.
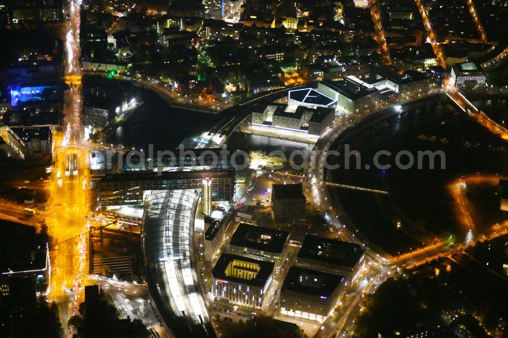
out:
{"label": "flat dark roof of block just behind the yellow-lit courtyard building", "polygon": [[288,231],[241,223],[236,228],[230,245],[281,253],[288,236]]}

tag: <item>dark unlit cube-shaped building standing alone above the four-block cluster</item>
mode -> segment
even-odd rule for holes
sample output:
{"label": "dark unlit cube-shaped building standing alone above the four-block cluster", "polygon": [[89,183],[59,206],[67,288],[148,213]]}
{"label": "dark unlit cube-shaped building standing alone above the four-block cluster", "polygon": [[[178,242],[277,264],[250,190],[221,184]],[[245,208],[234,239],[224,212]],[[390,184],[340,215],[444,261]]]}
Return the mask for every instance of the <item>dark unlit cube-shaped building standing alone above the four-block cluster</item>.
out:
{"label": "dark unlit cube-shaped building standing alone above the four-block cluster", "polygon": [[305,221],[305,202],[301,184],[272,186],[272,212],[276,224]]}

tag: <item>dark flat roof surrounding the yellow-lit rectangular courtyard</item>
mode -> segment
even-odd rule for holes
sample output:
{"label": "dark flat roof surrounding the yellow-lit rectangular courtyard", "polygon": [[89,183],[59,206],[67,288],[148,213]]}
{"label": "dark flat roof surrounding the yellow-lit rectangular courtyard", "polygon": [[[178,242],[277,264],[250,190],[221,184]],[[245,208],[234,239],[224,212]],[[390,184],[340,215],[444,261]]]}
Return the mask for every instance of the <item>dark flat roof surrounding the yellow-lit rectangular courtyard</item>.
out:
{"label": "dark flat roof surrounding the yellow-lit rectangular courtyard", "polygon": [[[226,276],[226,268],[228,267],[229,263],[233,262],[234,260],[247,262],[247,263],[254,263],[259,265],[259,271],[256,276],[256,278],[252,278],[250,280],[233,277],[233,276]],[[215,266],[212,269],[212,276],[215,279],[221,279],[225,281],[230,282],[236,282],[236,283],[242,283],[247,284],[251,286],[257,286],[257,287],[263,287],[266,284],[266,281],[268,278],[270,278],[272,272],[273,272],[274,264],[272,262],[266,262],[262,260],[256,260],[251,258],[246,258],[242,256],[237,255],[231,255],[231,254],[221,254],[219,259],[217,260],[217,263],[215,263]]]}

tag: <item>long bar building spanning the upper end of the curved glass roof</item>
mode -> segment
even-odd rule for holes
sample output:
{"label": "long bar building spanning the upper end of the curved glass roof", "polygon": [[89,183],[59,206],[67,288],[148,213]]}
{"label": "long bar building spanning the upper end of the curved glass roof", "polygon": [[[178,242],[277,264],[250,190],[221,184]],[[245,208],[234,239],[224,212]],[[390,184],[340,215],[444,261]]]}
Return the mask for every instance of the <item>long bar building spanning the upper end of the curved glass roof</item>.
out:
{"label": "long bar building spanning the upper end of the curved glass roof", "polygon": [[229,201],[235,192],[235,172],[209,170],[190,172],[133,172],[108,174],[97,184],[97,197],[103,209],[142,206],[146,190],[203,189],[203,178],[211,177],[212,202]]}

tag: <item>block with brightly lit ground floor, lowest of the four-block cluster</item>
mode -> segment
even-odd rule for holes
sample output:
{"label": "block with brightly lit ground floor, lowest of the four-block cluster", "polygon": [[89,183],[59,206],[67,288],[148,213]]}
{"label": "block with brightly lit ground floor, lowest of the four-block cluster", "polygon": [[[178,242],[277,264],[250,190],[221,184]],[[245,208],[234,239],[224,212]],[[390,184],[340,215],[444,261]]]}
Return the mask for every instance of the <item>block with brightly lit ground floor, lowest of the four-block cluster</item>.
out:
{"label": "block with brightly lit ground floor, lowest of the four-block cluster", "polygon": [[292,266],[280,289],[280,314],[322,323],[344,292],[343,276]]}

